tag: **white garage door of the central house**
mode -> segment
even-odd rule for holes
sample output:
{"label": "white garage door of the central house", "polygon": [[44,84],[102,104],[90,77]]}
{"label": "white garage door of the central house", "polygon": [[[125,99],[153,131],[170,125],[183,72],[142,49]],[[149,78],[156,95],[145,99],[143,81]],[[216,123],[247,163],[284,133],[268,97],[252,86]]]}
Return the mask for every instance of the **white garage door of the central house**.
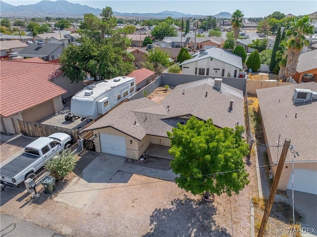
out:
{"label": "white garage door of the central house", "polygon": [[108,134],[100,134],[101,152],[127,156],[125,138]]}

